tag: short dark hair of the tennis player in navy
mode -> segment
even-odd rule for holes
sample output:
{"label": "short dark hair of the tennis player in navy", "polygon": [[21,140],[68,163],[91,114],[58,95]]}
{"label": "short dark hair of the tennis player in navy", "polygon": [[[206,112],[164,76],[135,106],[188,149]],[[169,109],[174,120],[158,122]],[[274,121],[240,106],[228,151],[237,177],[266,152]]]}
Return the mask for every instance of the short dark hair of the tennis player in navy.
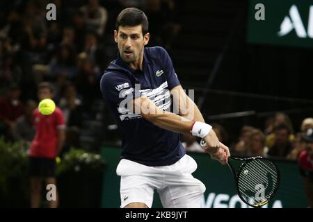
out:
{"label": "short dark hair of the tennis player in navy", "polygon": [[116,19],[115,28],[118,31],[120,26],[138,26],[143,28],[143,35],[147,34],[149,22],[145,12],[138,8],[125,8]]}

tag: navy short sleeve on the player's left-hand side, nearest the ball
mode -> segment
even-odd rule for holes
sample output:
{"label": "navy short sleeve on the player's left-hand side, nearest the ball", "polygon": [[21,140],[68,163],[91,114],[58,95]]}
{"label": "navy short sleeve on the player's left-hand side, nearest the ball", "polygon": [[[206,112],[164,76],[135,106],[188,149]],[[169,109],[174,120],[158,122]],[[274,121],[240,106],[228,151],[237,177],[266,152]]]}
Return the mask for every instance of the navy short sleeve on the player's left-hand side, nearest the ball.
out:
{"label": "navy short sleeve on the player's left-hand side, nearest the ball", "polygon": [[141,97],[136,85],[131,84],[129,78],[123,78],[120,74],[106,73],[100,81],[102,96],[106,101],[119,105],[122,101],[128,102]]}

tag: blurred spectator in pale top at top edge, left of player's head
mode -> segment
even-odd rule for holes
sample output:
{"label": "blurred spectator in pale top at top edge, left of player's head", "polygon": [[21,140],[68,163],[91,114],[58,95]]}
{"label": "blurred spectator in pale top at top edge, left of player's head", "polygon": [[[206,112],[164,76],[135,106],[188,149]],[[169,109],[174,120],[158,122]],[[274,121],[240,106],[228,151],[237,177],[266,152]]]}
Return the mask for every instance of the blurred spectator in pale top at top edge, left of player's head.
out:
{"label": "blurred spectator in pale top at top edge, left of player's head", "polygon": [[92,31],[101,36],[106,28],[108,12],[106,8],[99,6],[99,0],[89,0],[88,5],[82,6],[81,12],[85,17],[88,31]]}

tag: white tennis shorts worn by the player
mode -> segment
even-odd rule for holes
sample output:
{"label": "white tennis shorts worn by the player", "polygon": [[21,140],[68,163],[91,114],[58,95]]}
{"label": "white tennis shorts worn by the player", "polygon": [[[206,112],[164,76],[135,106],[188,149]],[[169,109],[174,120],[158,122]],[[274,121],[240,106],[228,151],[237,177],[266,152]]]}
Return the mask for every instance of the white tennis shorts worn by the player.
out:
{"label": "white tennis shorts worn by the player", "polygon": [[116,169],[121,176],[120,207],[139,202],[151,208],[153,192],[157,189],[165,208],[200,208],[205,186],[191,175],[197,167],[189,155],[164,167],[147,167],[131,160],[120,160]]}

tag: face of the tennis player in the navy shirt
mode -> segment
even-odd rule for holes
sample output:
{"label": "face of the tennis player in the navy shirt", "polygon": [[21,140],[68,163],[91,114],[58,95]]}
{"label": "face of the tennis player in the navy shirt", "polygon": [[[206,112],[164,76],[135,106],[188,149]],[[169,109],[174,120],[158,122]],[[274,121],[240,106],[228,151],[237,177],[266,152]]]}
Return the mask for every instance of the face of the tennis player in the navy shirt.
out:
{"label": "face of the tennis player in the navy shirt", "polygon": [[143,56],[143,46],[149,42],[150,34],[143,36],[141,25],[120,26],[114,31],[114,40],[118,43],[120,57],[126,63],[136,63]]}

